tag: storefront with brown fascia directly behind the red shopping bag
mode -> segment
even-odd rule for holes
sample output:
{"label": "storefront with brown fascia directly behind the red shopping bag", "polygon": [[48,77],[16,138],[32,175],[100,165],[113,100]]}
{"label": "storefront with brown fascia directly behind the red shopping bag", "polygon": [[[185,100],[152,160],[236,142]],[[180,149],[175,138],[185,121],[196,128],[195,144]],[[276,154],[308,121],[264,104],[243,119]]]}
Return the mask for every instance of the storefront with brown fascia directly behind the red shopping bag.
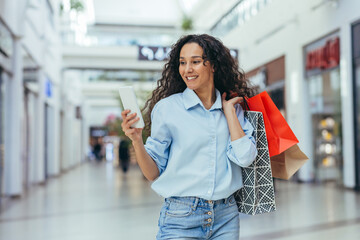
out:
{"label": "storefront with brown fascia directly behind the red shopping bag", "polygon": [[259,92],[267,91],[285,117],[285,56],[274,59],[246,73]]}

